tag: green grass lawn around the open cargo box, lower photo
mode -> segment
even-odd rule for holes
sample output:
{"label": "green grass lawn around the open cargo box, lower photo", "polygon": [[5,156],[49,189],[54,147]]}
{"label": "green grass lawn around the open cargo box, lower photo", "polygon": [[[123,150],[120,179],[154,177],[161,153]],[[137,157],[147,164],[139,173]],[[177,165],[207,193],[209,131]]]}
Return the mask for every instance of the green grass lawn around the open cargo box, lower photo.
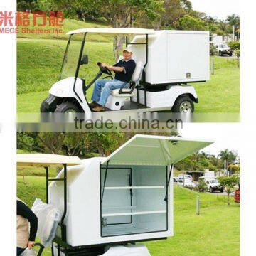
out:
{"label": "green grass lawn around the open cargo box, lower photo", "polygon": [[[32,206],[35,198],[45,200],[45,178],[17,177],[17,195]],[[198,193],[174,187],[174,237],[167,240],[145,242],[152,256],[238,256],[239,212],[238,204],[226,203],[225,196],[201,193],[201,215],[195,214]],[[50,250],[43,252],[50,256]]]}

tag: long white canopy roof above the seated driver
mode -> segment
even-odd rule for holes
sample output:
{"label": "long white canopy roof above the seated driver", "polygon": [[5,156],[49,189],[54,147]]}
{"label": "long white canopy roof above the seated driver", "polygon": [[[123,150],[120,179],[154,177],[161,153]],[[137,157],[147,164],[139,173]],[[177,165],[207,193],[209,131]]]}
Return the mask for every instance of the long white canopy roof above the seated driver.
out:
{"label": "long white canopy roof above the seated driver", "polygon": [[80,28],[69,31],[67,35],[76,33],[99,33],[105,36],[130,36],[130,35],[146,35],[154,34],[154,29],[145,28]]}

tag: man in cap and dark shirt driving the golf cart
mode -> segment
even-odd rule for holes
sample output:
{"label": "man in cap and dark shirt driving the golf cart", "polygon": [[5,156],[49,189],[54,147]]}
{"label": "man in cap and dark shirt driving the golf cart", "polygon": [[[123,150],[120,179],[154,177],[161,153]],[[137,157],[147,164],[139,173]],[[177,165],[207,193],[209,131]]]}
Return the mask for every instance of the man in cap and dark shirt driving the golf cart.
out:
{"label": "man in cap and dark shirt driving the golf cart", "polygon": [[111,90],[119,89],[124,84],[127,84],[125,87],[128,86],[127,82],[131,80],[136,64],[132,59],[132,51],[129,50],[129,48],[123,50],[123,57],[122,60],[119,60],[119,62],[114,65],[107,65],[106,63],[101,64],[102,67],[114,71],[115,76],[112,80],[96,80],[92,93],[92,102],[90,103],[90,107],[95,112],[105,111],[105,104],[107,98],[110,96]]}

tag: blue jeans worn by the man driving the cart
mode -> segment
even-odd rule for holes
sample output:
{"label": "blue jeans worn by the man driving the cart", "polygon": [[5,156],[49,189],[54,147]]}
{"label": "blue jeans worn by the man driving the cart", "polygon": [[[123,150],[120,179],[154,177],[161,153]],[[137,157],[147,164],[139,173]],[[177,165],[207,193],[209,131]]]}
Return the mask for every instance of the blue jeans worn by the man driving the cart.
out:
{"label": "blue jeans worn by the man driving the cart", "polygon": [[[95,87],[92,92],[92,100],[98,104],[104,106],[107,102],[107,98],[110,96],[111,90],[119,89],[127,82],[119,81],[117,79],[107,80],[99,79],[95,82]],[[127,85],[129,85],[127,83]],[[125,85],[125,87],[127,87]]]}

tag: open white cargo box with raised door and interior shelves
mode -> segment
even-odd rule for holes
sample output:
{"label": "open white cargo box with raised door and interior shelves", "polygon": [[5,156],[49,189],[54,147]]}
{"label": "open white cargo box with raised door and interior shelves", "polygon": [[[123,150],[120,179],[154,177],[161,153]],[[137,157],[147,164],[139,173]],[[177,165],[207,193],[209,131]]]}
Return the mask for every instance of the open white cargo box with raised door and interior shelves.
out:
{"label": "open white cargo box with raised door and interior shelves", "polygon": [[[172,236],[171,166],[209,144],[136,135],[108,157],[68,167],[66,242],[76,247]],[[63,212],[62,181],[50,184],[49,199]]]}

